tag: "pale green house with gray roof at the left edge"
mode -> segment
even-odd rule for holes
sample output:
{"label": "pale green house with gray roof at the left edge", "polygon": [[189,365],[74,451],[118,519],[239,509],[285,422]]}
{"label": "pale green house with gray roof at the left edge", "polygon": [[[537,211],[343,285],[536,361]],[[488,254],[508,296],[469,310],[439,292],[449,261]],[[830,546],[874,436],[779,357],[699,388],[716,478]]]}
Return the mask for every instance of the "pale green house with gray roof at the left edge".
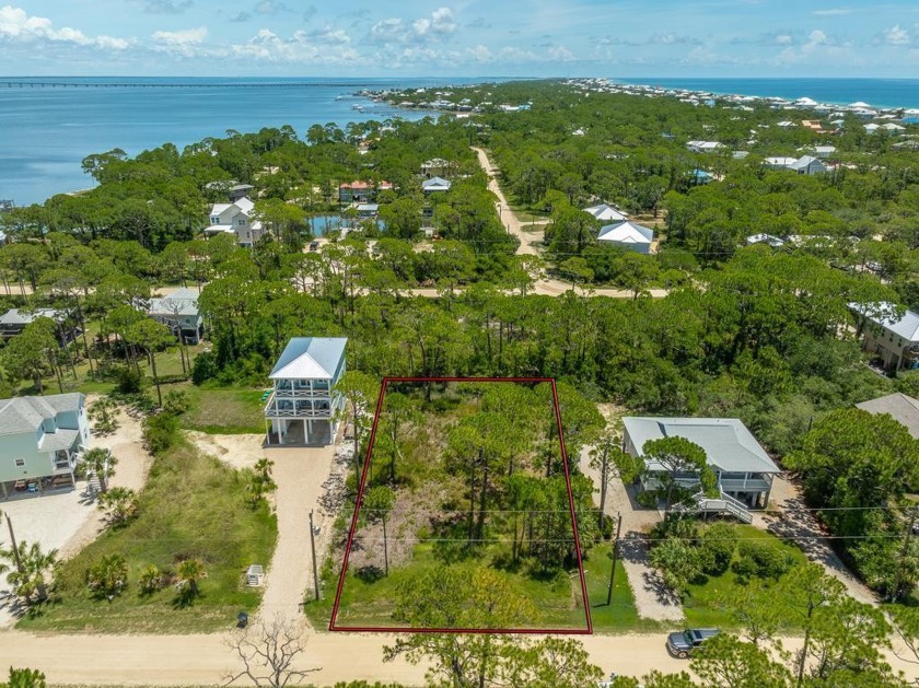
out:
{"label": "pale green house with gray roof at the left edge", "polygon": [[73,489],[90,440],[82,394],[0,400],[0,494],[3,499]]}

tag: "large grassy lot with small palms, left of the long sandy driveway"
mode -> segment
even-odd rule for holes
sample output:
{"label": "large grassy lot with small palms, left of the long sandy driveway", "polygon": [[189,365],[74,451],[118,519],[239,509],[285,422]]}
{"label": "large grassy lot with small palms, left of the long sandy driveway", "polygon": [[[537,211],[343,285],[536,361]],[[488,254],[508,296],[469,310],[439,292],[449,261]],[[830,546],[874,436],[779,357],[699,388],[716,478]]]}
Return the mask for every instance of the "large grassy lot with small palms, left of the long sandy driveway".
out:
{"label": "large grassy lot with small palms, left of the long sandy driveway", "polygon": [[[277,521],[267,508],[245,504],[246,480],[217,459],[199,455],[187,442],[156,458],[140,495],[139,516],[128,526],[106,530],[57,576],[59,600],[47,605],[20,628],[70,632],[193,633],[230,629],[242,610],[254,611],[261,592],[245,587],[248,564],[268,564],[277,539]],[[112,602],[94,599],[85,585],[86,569],[118,552],[129,565],[128,587]],[[167,585],[142,595],[140,572],[153,563],[174,572],[185,558],[205,563],[207,579],[190,606],[177,605]]]}

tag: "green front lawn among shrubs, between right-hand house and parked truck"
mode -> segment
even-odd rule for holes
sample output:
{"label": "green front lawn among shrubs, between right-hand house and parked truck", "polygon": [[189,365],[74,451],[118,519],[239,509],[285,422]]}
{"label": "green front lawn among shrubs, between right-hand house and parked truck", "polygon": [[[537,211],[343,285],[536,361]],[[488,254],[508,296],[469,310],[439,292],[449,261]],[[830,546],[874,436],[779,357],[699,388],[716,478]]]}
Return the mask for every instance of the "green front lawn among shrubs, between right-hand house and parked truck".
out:
{"label": "green front lawn among shrubs, between right-hand house and parked truck", "polygon": [[[738,539],[753,539],[768,547],[782,550],[789,553],[795,563],[807,561],[807,558],[798,547],[779,539],[771,533],[749,525],[737,525],[735,527]],[[737,553],[734,552],[734,560],[736,561],[737,558]],[[687,626],[697,628],[731,628],[734,626],[730,611],[723,606],[723,600],[738,587],[743,587],[743,582],[730,569],[722,575],[709,576],[705,583],[690,585],[689,594],[683,604]],[[783,604],[780,597],[776,597],[773,603],[779,606]]]}

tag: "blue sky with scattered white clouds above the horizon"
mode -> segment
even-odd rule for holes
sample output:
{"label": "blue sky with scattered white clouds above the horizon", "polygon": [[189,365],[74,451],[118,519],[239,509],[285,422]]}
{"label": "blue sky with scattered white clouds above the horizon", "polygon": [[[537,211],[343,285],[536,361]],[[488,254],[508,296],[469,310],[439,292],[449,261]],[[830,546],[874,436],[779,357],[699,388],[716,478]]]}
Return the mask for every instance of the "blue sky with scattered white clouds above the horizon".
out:
{"label": "blue sky with scattered white clouds above the horizon", "polygon": [[917,0],[0,0],[5,75],[917,78]]}

